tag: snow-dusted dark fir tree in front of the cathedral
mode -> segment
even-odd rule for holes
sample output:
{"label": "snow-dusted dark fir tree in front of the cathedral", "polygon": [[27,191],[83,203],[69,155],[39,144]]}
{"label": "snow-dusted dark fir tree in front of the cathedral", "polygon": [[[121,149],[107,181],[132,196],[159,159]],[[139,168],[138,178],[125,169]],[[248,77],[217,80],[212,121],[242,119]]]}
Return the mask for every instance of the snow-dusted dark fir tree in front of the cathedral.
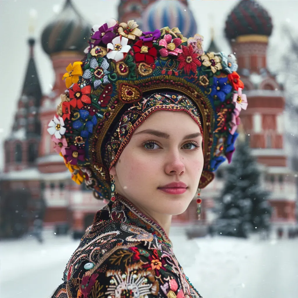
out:
{"label": "snow-dusted dark fir tree in front of the cathedral", "polygon": [[247,237],[249,230],[268,231],[271,207],[269,193],[261,189],[260,175],[248,142],[239,139],[220,198],[218,223],[222,235]]}

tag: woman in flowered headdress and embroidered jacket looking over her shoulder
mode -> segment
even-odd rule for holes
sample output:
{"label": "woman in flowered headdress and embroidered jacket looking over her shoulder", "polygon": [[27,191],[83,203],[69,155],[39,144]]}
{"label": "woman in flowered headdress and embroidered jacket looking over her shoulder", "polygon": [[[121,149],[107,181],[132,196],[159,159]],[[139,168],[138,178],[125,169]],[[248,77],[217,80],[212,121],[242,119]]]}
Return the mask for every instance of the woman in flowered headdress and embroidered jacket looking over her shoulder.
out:
{"label": "woman in flowered headdress and embroidered jacket looking over her shoulder", "polygon": [[66,68],[48,131],[72,179],[108,204],[52,297],[201,297],[167,235],[235,150],[247,106],[235,57],[205,54],[200,35],[178,28],[93,31],[85,58]]}

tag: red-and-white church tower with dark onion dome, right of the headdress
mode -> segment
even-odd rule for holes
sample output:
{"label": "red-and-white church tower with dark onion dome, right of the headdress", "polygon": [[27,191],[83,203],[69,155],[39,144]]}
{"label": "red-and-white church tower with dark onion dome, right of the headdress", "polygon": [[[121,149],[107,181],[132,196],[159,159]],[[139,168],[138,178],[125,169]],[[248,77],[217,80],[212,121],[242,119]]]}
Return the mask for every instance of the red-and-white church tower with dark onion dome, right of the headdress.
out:
{"label": "red-and-white church tower with dark onion dome, right of the headdress", "polygon": [[271,193],[272,221],[276,226],[291,226],[296,224],[297,191],[283,144],[283,88],[267,68],[272,28],[271,17],[257,1],[241,0],[226,20],[225,33],[245,85],[249,105],[240,118],[252,153],[264,166],[263,185]]}

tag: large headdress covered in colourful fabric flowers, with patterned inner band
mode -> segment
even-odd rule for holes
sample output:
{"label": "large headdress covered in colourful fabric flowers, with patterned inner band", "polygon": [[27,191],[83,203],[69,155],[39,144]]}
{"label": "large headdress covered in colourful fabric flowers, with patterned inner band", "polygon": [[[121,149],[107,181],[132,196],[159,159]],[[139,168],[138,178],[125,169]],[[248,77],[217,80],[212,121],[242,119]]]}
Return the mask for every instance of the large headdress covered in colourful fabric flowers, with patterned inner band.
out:
{"label": "large headdress covered in colourful fabric flowers, with patterned inner band", "polygon": [[178,109],[203,132],[206,187],[231,161],[247,107],[235,56],[205,53],[201,35],[185,38],[178,28],[142,32],[112,20],[92,31],[84,59],[66,68],[67,90],[48,128],[72,179],[110,199],[109,169],[136,127],[153,111]]}

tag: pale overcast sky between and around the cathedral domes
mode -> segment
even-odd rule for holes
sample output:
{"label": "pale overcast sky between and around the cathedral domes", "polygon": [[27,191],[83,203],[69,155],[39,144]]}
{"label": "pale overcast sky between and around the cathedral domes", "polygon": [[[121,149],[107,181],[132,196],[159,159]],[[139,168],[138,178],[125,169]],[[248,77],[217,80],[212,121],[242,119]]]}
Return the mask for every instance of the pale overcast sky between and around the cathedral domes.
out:
{"label": "pale overcast sky between and around the cathedral domes", "polygon": [[[65,0],[0,0],[0,61],[1,61],[1,122],[0,168],[3,166],[3,140],[10,134],[13,116],[23,86],[29,49],[30,14],[35,15],[35,62],[41,88],[47,94],[54,82],[54,72],[49,56],[43,51],[40,36],[44,27],[55,17]],[[170,1],[170,0],[169,0]],[[197,21],[198,33],[204,36],[204,49],[210,42],[210,28],[215,29],[215,41],[225,52],[230,52],[224,38],[227,15],[239,0],[189,0]],[[117,18],[119,0],[72,0],[83,18],[91,25],[103,24],[108,18]],[[271,15],[274,29],[269,42],[268,67],[275,71],[280,55],[284,53],[281,27],[288,24],[298,31],[298,0],[258,0]]]}

